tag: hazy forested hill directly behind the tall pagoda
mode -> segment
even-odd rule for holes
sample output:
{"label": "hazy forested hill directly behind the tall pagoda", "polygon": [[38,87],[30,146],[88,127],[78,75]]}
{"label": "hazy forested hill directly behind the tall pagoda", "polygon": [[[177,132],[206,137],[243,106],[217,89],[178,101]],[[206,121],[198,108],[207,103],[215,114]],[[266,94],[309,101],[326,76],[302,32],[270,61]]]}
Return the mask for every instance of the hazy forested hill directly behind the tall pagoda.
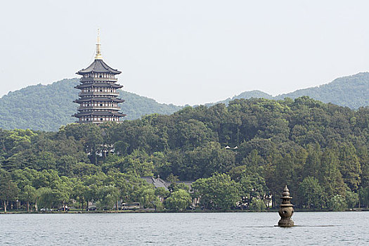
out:
{"label": "hazy forested hill directly behind the tall pagoda", "polygon": [[[49,85],[37,84],[9,92],[0,98],[0,128],[56,131],[62,125],[76,121],[79,79],[63,79]],[[119,91],[126,100],[121,104],[124,119],[137,119],[153,113],[171,114],[181,107],[157,103],[155,100]]]}

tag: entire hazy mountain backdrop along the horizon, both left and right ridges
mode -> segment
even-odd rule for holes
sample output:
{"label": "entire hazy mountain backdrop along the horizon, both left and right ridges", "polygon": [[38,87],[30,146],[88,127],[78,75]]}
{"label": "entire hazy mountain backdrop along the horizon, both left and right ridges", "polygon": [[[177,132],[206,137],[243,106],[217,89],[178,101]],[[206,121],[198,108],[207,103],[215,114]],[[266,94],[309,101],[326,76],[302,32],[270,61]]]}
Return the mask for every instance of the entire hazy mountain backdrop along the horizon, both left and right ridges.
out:
{"label": "entire hazy mountain backdrop along the horizon, both left and right ridges", "polygon": [[[0,128],[3,129],[34,129],[56,131],[65,124],[75,122],[71,117],[77,112],[77,104],[72,103],[78,98],[78,90],[74,87],[79,79],[63,79],[48,85],[27,86],[18,91],[9,92],[0,98]],[[138,96],[135,93],[119,91],[125,100],[120,104],[122,112],[127,114],[124,119],[138,119],[153,113],[169,115],[180,110],[181,106],[157,103],[151,98]],[[329,84],[300,89],[291,93],[271,96],[263,91],[245,91],[238,96],[217,103],[228,103],[236,98],[267,98],[280,100],[286,97],[297,98],[310,96],[324,103],[334,103],[349,108],[360,108],[369,105],[369,72],[340,77]],[[211,106],[215,103],[207,103]]]}

